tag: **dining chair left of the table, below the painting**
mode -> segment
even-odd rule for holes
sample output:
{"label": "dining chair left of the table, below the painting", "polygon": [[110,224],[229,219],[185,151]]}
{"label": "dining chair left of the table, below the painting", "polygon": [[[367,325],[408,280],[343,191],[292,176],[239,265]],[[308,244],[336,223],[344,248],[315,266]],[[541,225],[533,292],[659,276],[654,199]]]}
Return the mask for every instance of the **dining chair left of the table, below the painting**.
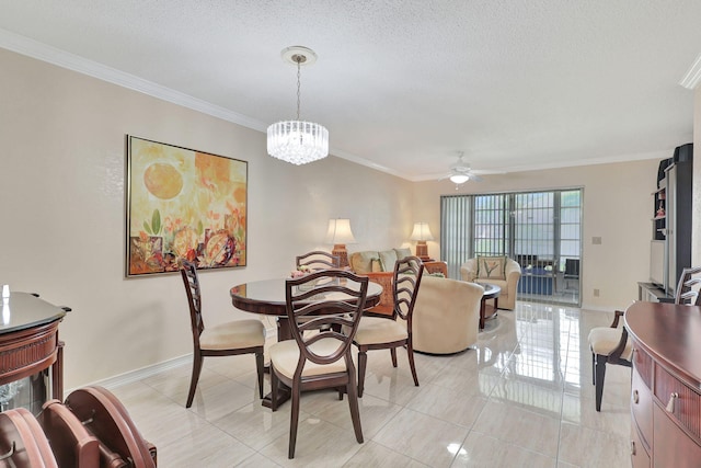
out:
{"label": "dining chair left of the table, below the painting", "polygon": [[183,262],[181,274],[187,294],[194,350],[193,375],[185,408],[189,408],[193,404],[205,356],[255,354],[258,395],[263,398],[263,345],[265,344],[265,327],[263,322],[255,319],[234,320],[206,328],[202,315],[202,289],[195,264]]}

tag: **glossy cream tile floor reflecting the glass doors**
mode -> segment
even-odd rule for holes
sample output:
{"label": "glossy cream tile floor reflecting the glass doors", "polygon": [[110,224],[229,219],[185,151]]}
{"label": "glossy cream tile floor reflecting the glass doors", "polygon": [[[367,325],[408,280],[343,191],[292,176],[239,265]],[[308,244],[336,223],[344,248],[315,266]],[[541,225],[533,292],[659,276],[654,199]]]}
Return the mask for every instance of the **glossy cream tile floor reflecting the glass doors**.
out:
{"label": "glossy cream tile floor reflecting the glass doors", "polygon": [[[360,419],[347,401],[306,393],[296,458],[287,459],[289,404],[273,413],[255,389],[251,356],[205,359],[195,402],[185,409],[191,366],[113,387],[159,466],[179,467],[630,467],[630,369],[609,366],[595,411],[587,334],[611,315],[519,303],[499,311],[474,349],[416,355],[368,354]],[[266,388],[269,381],[266,377]]]}

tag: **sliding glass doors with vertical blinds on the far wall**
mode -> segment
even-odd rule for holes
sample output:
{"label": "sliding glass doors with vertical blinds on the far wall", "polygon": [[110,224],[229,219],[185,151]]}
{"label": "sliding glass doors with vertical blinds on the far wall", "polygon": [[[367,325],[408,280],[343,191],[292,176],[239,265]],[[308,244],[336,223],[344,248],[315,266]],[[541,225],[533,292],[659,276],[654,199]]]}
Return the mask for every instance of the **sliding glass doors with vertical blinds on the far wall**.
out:
{"label": "sliding glass doors with vertical blinds on the far wall", "polygon": [[[476,255],[507,255],[547,288],[519,285],[519,298],[579,304],[582,189],[446,195],[440,198],[441,258],[448,275]],[[547,292],[547,294],[544,293]]]}

